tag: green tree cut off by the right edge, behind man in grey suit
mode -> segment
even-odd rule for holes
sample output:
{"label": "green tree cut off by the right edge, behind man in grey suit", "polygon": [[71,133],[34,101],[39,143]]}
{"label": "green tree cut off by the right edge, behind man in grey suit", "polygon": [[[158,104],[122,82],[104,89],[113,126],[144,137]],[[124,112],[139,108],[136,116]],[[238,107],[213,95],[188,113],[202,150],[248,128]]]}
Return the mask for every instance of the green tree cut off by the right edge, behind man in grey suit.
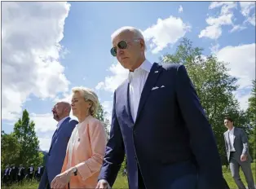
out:
{"label": "green tree cut off by the right edge, behind man in grey suit", "polygon": [[249,150],[254,160],[256,160],[256,80],[253,81],[253,89],[248,103],[247,114],[249,117],[249,125],[252,127],[252,132],[249,134]]}

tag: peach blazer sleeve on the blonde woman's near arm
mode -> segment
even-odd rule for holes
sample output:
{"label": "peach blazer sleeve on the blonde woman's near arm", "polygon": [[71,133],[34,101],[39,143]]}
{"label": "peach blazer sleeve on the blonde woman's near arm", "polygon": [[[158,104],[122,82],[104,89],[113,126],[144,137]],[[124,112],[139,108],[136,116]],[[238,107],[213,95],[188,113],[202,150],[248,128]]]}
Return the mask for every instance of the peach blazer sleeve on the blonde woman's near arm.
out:
{"label": "peach blazer sleeve on the blonde woman's near arm", "polygon": [[89,134],[92,156],[85,162],[76,165],[77,172],[81,175],[83,181],[99,172],[107,143],[107,134],[100,121],[90,125]]}

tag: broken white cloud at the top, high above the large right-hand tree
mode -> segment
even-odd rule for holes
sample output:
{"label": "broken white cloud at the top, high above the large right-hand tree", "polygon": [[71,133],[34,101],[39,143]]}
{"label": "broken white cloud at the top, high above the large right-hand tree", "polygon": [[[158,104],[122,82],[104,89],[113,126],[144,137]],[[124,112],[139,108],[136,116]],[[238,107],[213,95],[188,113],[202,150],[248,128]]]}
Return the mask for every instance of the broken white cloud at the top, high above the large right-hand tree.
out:
{"label": "broken white cloud at the top, high above the large right-hand tree", "polygon": [[210,16],[205,20],[209,26],[206,26],[205,29],[201,30],[198,35],[199,38],[208,37],[210,39],[218,39],[222,34],[223,25],[232,25],[233,29],[231,32],[243,29],[242,27],[233,24],[234,14],[232,11],[237,7],[236,2],[211,2],[209,9],[218,7],[221,7],[220,14],[217,17]]}

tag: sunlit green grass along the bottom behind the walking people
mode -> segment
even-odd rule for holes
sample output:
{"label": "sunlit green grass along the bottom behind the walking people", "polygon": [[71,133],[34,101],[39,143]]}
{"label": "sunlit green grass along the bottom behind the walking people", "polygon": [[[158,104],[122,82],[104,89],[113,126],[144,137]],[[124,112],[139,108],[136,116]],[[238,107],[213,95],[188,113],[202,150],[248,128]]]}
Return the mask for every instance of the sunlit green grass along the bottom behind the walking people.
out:
{"label": "sunlit green grass along the bottom behind the walking people", "polygon": [[[255,167],[255,163],[252,164],[252,170],[253,170],[253,175],[254,175],[254,181],[256,182],[256,167]],[[246,182],[245,182],[245,176],[244,174],[241,172],[241,179],[242,181],[245,183],[246,186]],[[223,176],[226,179],[228,186],[231,189],[235,189],[236,188],[236,183],[234,182],[230,170],[228,170],[226,167],[223,167]],[[38,189],[38,182],[33,181],[33,182],[25,182],[23,186],[19,186],[19,185],[14,185],[11,187],[2,187],[2,189]],[[122,177],[121,175],[118,175],[117,180],[113,186],[113,188],[128,188],[128,181],[126,177]]]}

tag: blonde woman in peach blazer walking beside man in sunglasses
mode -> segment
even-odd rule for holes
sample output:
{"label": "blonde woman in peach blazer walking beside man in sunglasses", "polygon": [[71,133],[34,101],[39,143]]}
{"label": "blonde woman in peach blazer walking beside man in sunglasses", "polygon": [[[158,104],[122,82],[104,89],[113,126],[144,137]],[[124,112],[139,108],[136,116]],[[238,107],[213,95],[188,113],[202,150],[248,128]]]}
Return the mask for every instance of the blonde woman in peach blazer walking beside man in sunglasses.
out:
{"label": "blonde woman in peach blazer walking beside man in sunglasses", "polygon": [[107,135],[102,123],[93,117],[98,97],[90,89],[73,88],[72,110],[79,123],[69,139],[61,174],[51,188],[95,188],[103,163]]}

